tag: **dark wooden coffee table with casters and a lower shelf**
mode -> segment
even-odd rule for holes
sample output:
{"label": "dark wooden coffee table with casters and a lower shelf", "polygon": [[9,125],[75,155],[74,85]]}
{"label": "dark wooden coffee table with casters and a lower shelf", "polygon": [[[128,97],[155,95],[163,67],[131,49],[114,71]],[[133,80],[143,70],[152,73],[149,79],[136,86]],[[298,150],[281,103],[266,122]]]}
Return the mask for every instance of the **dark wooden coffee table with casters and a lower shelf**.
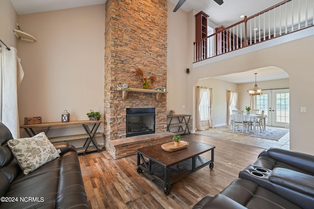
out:
{"label": "dark wooden coffee table with casters and a lower shelf", "polygon": [[[194,173],[202,167],[209,165],[214,167],[214,148],[208,144],[188,141],[186,148],[167,152],[161,148],[161,144],[136,149],[137,172],[144,170],[157,182],[164,186],[165,195],[171,193],[171,184],[179,179]],[[211,151],[211,158],[200,156]]]}

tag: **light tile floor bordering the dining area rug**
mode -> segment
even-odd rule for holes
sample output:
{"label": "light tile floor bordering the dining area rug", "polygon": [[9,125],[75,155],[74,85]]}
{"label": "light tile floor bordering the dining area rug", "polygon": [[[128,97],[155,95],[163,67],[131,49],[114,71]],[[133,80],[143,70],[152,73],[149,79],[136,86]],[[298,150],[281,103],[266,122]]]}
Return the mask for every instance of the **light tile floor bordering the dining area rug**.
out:
{"label": "light tile floor bordering the dining area rug", "polygon": [[[285,136],[283,136],[281,139],[276,141],[276,140],[271,140],[271,139],[250,137],[250,136],[246,136],[242,134],[228,133],[228,132],[225,132],[226,129],[231,129],[231,126],[225,125],[225,126],[218,126],[216,128],[209,129],[206,131],[196,131],[196,134],[202,134],[202,135],[206,135],[206,136],[213,137],[216,139],[224,139],[224,140],[233,141],[236,143],[247,144],[247,145],[265,148],[265,149],[269,147],[277,147],[277,148],[284,148],[284,149],[290,148],[289,132]],[[267,126],[266,126],[266,129],[267,129]]]}

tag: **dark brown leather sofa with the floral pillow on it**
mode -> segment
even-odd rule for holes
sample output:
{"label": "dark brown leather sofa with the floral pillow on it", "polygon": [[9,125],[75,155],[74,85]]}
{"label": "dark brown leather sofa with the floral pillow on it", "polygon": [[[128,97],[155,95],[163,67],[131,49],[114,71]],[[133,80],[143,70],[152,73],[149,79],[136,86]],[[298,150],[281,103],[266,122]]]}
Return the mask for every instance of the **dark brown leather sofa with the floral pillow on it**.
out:
{"label": "dark brown leather sofa with the floral pillow on it", "polygon": [[7,141],[8,128],[0,123],[0,209],[87,209],[77,150],[67,142],[54,143],[59,157],[25,175]]}

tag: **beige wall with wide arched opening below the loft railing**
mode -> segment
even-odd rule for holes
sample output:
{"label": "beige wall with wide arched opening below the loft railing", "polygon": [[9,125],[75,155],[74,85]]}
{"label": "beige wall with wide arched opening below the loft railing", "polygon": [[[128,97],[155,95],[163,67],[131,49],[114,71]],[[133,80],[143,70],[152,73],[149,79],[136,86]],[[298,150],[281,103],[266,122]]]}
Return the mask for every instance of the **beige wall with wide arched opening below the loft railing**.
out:
{"label": "beige wall with wide arched opening below the loft railing", "polygon": [[[269,66],[285,70],[289,75],[290,149],[314,154],[311,128],[314,116],[313,108],[311,108],[314,102],[314,93],[308,91],[314,78],[313,45],[311,44],[314,41],[314,27],[287,36],[298,36],[300,33],[306,33],[309,36],[192,69],[188,77],[186,96],[193,97],[193,86],[201,78]],[[188,112],[193,113],[193,101],[189,101],[188,107]],[[300,113],[300,107],[308,107],[307,112]]]}

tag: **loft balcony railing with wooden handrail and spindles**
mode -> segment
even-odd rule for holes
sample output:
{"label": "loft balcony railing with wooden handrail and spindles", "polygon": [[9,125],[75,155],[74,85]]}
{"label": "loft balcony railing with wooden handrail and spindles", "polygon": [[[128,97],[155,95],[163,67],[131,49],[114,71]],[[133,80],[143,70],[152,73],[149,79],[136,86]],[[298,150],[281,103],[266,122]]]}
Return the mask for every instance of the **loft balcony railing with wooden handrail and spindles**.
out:
{"label": "loft balcony railing with wooden handrail and spindles", "polygon": [[313,26],[314,0],[285,0],[194,42],[194,62]]}

